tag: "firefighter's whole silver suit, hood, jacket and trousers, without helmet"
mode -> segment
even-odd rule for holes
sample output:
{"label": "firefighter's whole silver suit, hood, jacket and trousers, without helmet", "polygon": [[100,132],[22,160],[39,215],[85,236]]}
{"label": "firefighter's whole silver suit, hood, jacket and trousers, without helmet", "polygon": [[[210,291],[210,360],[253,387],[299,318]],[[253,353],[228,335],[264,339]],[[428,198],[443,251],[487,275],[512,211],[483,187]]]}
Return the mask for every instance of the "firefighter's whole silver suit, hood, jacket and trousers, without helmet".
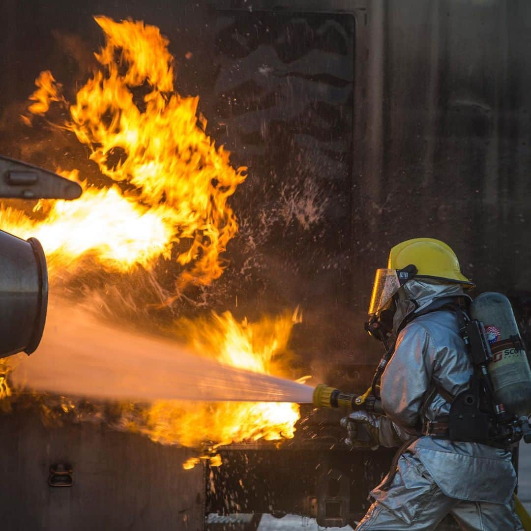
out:
{"label": "firefighter's whole silver suit, hood, jacket and trousers, without helmet", "polygon": [[[382,375],[387,417],[373,417],[371,423],[379,427],[383,446],[397,446],[408,438],[412,443],[399,458],[388,489],[381,488],[384,479],[371,492],[375,502],[356,530],[435,529],[448,513],[464,529],[522,529],[512,503],[516,473],[510,452],[407,434],[422,421],[419,415],[434,382],[456,396],[466,388],[472,366],[456,314],[444,309],[423,314],[463,296],[460,285],[413,279],[402,289],[407,300],[398,304],[393,327],[397,330],[412,313],[418,316],[399,332]],[[449,402],[436,393],[425,417],[436,421],[449,410]]]}

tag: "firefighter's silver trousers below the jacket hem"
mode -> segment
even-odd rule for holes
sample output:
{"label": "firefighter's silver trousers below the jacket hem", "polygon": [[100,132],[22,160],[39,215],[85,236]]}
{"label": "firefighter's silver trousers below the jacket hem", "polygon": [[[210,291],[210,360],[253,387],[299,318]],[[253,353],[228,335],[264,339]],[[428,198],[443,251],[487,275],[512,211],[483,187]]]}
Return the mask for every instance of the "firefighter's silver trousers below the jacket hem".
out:
{"label": "firefighter's silver trousers below the jacket hem", "polygon": [[[375,489],[378,491],[378,487]],[[450,498],[412,453],[402,455],[389,489],[376,496],[356,531],[429,531],[451,514],[467,531],[522,530],[511,502],[507,504]]]}

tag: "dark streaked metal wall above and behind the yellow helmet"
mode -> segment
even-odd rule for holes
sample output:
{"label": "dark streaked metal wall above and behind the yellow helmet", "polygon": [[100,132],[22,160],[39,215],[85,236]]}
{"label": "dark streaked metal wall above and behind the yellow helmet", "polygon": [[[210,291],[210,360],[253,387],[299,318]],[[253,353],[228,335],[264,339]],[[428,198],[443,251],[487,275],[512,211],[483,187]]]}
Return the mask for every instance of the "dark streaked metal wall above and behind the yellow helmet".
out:
{"label": "dark streaked metal wall above and behind the yellow helmet", "polygon": [[[367,120],[360,234],[371,269],[390,245],[432,235],[477,291],[531,289],[527,2],[370,2],[382,98]],[[376,37],[380,34],[380,37]],[[367,91],[371,101],[371,90]],[[375,245],[371,245],[371,240]],[[379,256],[381,258],[379,258]],[[370,272],[364,281],[369,283]]]}

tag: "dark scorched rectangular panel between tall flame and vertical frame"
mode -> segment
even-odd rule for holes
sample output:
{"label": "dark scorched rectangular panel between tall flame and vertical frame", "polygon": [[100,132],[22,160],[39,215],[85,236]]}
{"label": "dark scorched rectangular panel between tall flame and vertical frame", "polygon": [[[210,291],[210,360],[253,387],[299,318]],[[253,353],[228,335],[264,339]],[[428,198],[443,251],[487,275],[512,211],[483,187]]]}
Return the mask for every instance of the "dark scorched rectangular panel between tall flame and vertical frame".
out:
{"label": "dark scorched rectangular panel between tall flame and vertical frame", "polygon": [[323,354],[338,366],[352,337],[357,25],[353,14],[315,11],[217,5],[212,116],[216,136],[249,167],[234,198],[233,310],[301,305],[293,347],[304,370],[324,378]]}

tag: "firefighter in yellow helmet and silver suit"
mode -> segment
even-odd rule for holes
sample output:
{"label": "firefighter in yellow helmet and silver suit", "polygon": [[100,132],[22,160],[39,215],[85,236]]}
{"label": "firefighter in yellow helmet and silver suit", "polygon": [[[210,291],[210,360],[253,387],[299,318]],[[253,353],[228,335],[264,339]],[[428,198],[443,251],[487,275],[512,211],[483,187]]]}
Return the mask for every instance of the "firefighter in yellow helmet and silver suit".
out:
{"label": "firefighter in yellow helmet and silver suit", "polygon": [[451,305],[466,306],[472,287],[455,253],[432,238],[393,247],[376,272],[372,326],[396,341],[380,381],[385,415],[359,411],[341,423],[351,446],[366,446],[356,440],[363,431],[369,446],[401,449],[356,530],[435,529],[449,513],[463,529],[523,529],[510,448],[447,438],[451,401],[473,372]]}

